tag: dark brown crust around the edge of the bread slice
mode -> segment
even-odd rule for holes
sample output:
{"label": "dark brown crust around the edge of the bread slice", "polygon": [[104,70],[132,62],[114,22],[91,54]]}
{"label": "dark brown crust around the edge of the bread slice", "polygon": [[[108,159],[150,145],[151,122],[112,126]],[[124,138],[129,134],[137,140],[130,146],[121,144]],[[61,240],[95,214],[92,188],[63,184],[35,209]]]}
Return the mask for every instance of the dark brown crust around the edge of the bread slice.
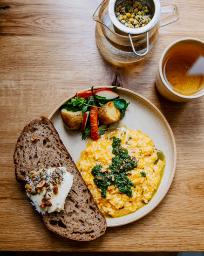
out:
{"label": "dark brown crust around the edge of the bread slice", "polygon": [[[23,136],[24,136],[24,134],[25,134],[25,132],[27,132],[27,129],[30,129],[30,127],[32,127],[32,125],[35,123],[35,122],[39,122],[39,121],[41,121],[42,123],[44,123],[44,122],[46,122],[46,123],[48,123],[48,125],[51,127],[51,129],[52,129],[52,132],[54,132],[54,134],[57,136],[57,138],[58,138],[58,140],[59,140],[59,142],[60,142],[60,144],[61,144],[61,147],[64,149],[64,152],[65,152],[65,154],[68,156],[68,158],[69,158],[69,161],[71,161],[71,164],[72,164],[72,166],[74,167],[74,172],[75,172],[75,174],[76,174],[76,176],[77,176],[77,178],[79,178],[80,179],[80,182],[82,183],[82,187],[84,187],[85,188],[85,190],[88,192],[88,197],[89,197],[89,202],[90,202],[90,205],[91,206],[89,206],[89,208],[90,207],[92,207],[93,208],[93,210],[94,210],[94,212],[95,212],[95,215],[96,214],[98,214],[98,215],[100,215],[100,216],[97,216],[98,217],[98,220],[100,219],[101,220],[101,230],[100,230],[100,234],[98,235],[98,236],[100,236],[100,235],[103,235],[104,233],[105,233],[105,230],[106,230],[106,219],[105,219],[105,217],[103,216],[103,214],[102,214],[102,212],[99,210],[99,208],[98,208],[98,206],[96,205],[96,203],[95,203],[95,201],[94,201],[94,199],[92,198],[92,195],[91,195],[91,193],[90,193],[90,191],[89,191],[89,189],[88,189],[88,186],[86,185],[86,183],[85,183],[85,181],[83,180],[83,178],[82,178],[82,176],[81,176],[81,174],[80,174],[80,172],[79,172],[79,170],[78,170],[78,168],[76,167],[76,165],[75,165],[75,162],[73,161],[73,159],[72,159],[72,157],[70,156],[70,154],[69,154],[69,152],[68,152],[68,150],[66,149],[66,147],[64,146],[64,144],[63,144],[63,142],[61,141],[61,138],[60,138],[60,136],[59,136],[59,134],[58,134],[58,132],[56,131],[56,129],[54,128],[54,125],[53,125],[53,123],[47,118],[47,117],[45,117],[45,116],[41,116],[41,120],[38,120],[38,119],[34,119],[33,121],[31,121],[30,123],[28,123],[24,128],[23,128],[23,130],[22,130],[22,132],[21,132],[21,134],[20,134],[20,136],[19,136],[19,138],[18,138],[18,140],[17,140],[17,143],[16,143],[16,147],[15,147],[15,151],[14,151],[14,164],[15,164],[15,176],[16,176],[16,180],[17,180],[17,182],[24,182],[25,181],[25,179],[26,179],[26,176],[25,176],[25,178],[22,178],[22,176],[20,175],[20,167],[19,167],[19,159],[17,158],[17,154],[18,154],[18,150],[19,150],[19,147],[20,147],[20,142],[22,142],[22,138],[23,138]],[[70,164],[69,164],[70,165]],[[36,166],[35,166],[36,167]],[[69,171],[69,170],[68,170]],[[69,195],[69,194],[68,194]],[[87,206],[86,206],[87,207]],[[62,213],[61,213],[62,212]],[[65,210],[64,211],[61,211],[60,213],[55,213],[55,214],[53,214],[54,216],[56,215],[59,215],[59,216],[62,216],[61,214],[63,214],[63,212],[65,212]],[[75,212],[75,211],[74,211]],[[65,213],[64,213],[65,214]],[[62,232],[60,232],[59,230],[58,230],[58,222],[57,222],[57,229],[56,229],[56,227],[54,228],[54,226],[52,226],[52,225],[50,225],[50,221],[52,221],[52,220],[50,220],[50,216],[52,216],[52,213],[46,213],[46,214],[44,214],[44,215],[41,215],[41,219],[42,219],[42,221],[45,223],[45,225],[47,226],[47,228],[49,229],[49,230],[51,230],[51,231],[53,231],[53,232],[55,232],[55,233],[57,233],[58,235],[61,235],[61,236],[64,236],[64,237],[67,237],[67,238],[70,238],[70,239],[73,239],[73,240],[78,240],[78,241],[90,241],[90,240],[94,240],[95,238],[97,238],[98,236],[94,236],[94,237],[92,237],[92,236],[90,236],[90,235],[88,235],[87,237],[86,237],[86,235],[84,235],[84,234],[88,234],[88,233],[92,233],[92,231],[91,232],[84,232],[84,234],[82,234],[82,237],[80,236],[80,239],[77,239],[77,231],[76,232],[73,232],[73,234],[74,235],[67,235],[67,234],[63,234]],[[58,218],[58,216],[57,216],[57,218]],[[59,219],[59,218],[58,218]],[[59,220],[60,221],[60,220]],[[82,221],[82,220],[81,220]],[[82,232],[83,233],[83,232]],[[81,234],[81,232],[79,232],[79,234]],[[79,236],[79,235],[78,235]],[[84,236],[85,236],[85,238],[84,238]]]}

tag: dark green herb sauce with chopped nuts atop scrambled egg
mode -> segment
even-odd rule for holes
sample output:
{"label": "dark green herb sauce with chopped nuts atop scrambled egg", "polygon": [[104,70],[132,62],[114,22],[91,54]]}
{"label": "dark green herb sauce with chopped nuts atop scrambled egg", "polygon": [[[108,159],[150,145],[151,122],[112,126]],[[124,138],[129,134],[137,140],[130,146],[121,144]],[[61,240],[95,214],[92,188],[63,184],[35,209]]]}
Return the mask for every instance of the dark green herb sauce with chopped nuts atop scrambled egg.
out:
{"label": "dark green herb sauce with chopped nuts atop scrambled egg", "polygon": [[122,148],[120,142],[121,139],[113,137],[112,153],[116,156],[112,158],[112,164],[107,168],[111,171],[102,173],[102,165],[96,165],[91,172],[95,176],[95,184],[102,190],[101,196],[103,198],[106,198],[106,190],[110,185],[116,185],[120,192],[132,197],[131,186],[134,186],[134,183],[126,176],[126,172],[136,168],[137,163],[134,158],[131,160],[128,150]]}

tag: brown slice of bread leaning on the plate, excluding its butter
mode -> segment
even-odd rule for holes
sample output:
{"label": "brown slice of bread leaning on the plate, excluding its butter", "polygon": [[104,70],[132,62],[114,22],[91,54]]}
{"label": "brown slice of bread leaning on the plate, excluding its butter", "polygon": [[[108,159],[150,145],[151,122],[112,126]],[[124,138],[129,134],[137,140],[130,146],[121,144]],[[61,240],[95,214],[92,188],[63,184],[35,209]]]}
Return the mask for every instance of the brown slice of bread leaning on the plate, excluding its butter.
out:
{"label": "brown slice of bread leaning on the plate, excluding its butter", "polygon": [[[33,137],[38,140],[32,141]],[[41,120],[35,119],[26,125],[18,138],[14,152],[16,179],[23,182],[30,171],[57,163],[74,175],[73,185],[66,198],[64,211],[45,213],[42,220],[48,229],[74,240],[89,241],[103,235],[106,219],[95,204],[52,122],[41,116]]]}

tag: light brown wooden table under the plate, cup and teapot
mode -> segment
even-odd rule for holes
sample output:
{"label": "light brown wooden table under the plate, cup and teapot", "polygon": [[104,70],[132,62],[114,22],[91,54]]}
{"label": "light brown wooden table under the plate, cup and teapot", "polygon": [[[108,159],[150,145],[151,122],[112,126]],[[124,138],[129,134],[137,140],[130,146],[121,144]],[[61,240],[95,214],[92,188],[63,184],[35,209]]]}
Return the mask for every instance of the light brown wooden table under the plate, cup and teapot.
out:
{"label": "light brown wooden table under the plate, cup and teapot", "polygon": [[[134,64],[104,57],[92,15],[101,0],[1,0],[0,7],[0,250],[204,250],[204,97],[172,103],[156,91],[163,50],[182,37],[204,39],[203,0],[172,0],[180,20],[161,28],[155,50]],[[161,4],[169,4],[161,0]],[[194,16],[199,9],[199,18]],[[148,215],[107,228],[91,242],[50,234],[14,176],[13,153],[28,121],[49,116],[60,102],[92,85],[125,88],[146,97],[169,121],[177,170],[169,192]]]}

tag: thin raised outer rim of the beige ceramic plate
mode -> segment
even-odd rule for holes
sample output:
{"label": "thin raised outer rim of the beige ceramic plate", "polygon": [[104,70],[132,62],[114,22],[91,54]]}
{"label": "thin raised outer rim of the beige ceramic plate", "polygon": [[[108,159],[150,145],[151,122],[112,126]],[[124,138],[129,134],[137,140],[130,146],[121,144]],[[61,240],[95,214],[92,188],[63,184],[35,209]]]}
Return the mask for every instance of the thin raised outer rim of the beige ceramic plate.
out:
{"label": "thin raised outer rim of the beige ceramic plate", "polygon": [[[94,87],[94,89],[102,89],[102,88],[113,88],[114,86],[96,86]],[[158,204],[163,200],[163,198],[165,197],[166,193],[169,191],[170,189],[170,185],[173,181],[173,178],[174,178],[174,175],[175,175],[175,171],[176,171],[176,164],[177,164],[177,148],[176,148],[176,142],[175,142],[175,139],[174,139],[174,135],[173,135],[173,132],[170,128],[170,125],[168,123],[168,121],[166,120],[166,118],[164,117],[164,115],[162,114],[162,112],[153,104],[150,102],[150,100],[147,100],[145,97],[143,97],[142,95],[136,93],[136,92],[133,92],[129,89],[126,89],[126,88],[122,88],[122,87],[117,87],[117,90],[119,91],[124,91],[124,92],[129,92],[131,94],[135,94],[137,97],[141,98],[142,100],[146,101],[151,107],[153,107],[155,109],[155,111],[157,112],[157,114],[160,115],[161,119],[164,121],[166,127],[168,128],[168,131],[170,133],[170,138],[171,138],[171,141],[173,142],[173,151],[174,151],[174,162],[173,162],[173,170],[172,170],[172,173],[171,173],[171,176],[170,176],[170,180],[169,180],[169,183],[166,187],[166,189],[164,190],[163,194],[161,195],[160,199],[156,201],[156,203],[151,206],[147,211],[143,212],[142,214],[138,215],[137,217],[131,219],[131,220],[127,220],[127,221],[123,221],[121,223],[118,223],[118,224],[107,224],[107,227],[117,227],[117,226],[122,226],[122,225],[126,225],[126,224],[129,224],[131,222],[134,222],[136,220],[139,220],[141,218],[143,218],[145,215],[147,215],[148,213],[150,213],[156,206],[158,206]],[[87,91],[91,91],[91,88],[88,88],[88,89],[84,89],[80,92],[87,92]],[[80,93],[79,92],[79,93]],[[73,98],[75,96],[76,93],[70,95],[68,98],[66,98],[65,100],[61,101],[61,103],[54,108],[54,111],[49,115],[48,119],[51,120],[52,117],[54,116],[54,114],[58,111],[58,109],[61,107],[61,105],[63,105],[66,101],[70,100],[71,98]],[[122,217],[122,216],[121,216]],[[108,220],[108,219],[106,219]]]}

